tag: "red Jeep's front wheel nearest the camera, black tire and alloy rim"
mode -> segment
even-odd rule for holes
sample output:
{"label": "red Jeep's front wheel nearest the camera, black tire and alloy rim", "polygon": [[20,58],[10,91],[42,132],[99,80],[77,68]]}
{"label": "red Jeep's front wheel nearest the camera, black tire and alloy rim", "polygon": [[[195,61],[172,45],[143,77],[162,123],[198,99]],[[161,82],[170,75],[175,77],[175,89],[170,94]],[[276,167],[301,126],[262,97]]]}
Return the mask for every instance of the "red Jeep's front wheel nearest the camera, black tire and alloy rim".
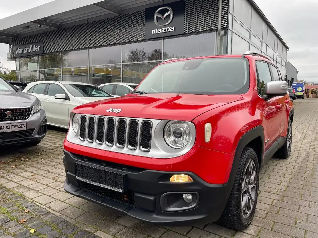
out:
{"label": "red Jeep's front wheel nearest the camera, black tire and alloy rim", "polygon": [[218,223],[234,229],[247,228],[254,217],[259,191],[259,163],[255,151],[242,151],[231,194]]}

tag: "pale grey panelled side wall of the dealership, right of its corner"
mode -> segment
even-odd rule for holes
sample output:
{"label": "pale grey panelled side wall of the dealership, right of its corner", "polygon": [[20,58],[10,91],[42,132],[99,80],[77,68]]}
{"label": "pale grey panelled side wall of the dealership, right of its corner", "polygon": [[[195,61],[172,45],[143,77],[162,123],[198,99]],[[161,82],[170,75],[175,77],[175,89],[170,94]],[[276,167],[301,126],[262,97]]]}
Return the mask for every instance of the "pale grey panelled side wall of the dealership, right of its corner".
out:
{"label": "pale grey panelled side wall of the dealership, right of its corner", "polygon": [[248,0],[229,0],[229,6],[228,53],[259,51],[270,57],[284,76],[287,56],[285,45]]}

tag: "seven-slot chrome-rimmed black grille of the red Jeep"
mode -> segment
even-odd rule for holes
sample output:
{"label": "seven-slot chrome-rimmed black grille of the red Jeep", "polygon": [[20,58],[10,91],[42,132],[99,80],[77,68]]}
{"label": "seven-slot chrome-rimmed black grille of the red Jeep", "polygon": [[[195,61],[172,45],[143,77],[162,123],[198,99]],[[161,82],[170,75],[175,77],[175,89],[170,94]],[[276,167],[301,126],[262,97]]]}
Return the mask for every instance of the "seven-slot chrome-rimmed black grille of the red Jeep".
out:
{"label": "seven-slot chrome-rimmed black grille of the red Jeep", "polygon": [[152,122],[143,120],[139,124],[136,119],[127,120],[125,118],[115,119],[113,117],[80,117],[79,139],[82,141],[106,144],[142,151],[149,151],[151,147]]}

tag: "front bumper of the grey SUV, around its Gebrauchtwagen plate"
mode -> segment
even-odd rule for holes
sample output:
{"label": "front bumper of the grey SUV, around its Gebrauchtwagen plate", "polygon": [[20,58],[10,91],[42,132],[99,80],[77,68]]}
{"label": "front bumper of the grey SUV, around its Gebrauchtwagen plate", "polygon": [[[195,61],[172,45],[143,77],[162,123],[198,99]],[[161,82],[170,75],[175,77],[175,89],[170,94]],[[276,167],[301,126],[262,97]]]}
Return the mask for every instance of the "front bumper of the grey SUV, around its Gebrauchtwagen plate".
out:
{"label": "front bumper of the grey SUV, around its Gebrauchtwagen plate", "polygon": [[46,115],[43,109],[31,114],[27,120],[0,122],[0,125],[17,122],[26,122],[26,130],[0,133],[0,146],[39,142],[46,135]]}

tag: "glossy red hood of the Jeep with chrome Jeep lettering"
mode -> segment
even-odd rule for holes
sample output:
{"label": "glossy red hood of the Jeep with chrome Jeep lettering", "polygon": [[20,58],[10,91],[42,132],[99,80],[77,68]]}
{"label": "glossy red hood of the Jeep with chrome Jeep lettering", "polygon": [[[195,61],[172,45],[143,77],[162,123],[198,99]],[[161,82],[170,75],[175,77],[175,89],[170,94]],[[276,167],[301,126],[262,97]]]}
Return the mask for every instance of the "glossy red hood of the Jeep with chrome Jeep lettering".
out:
{"label": "glossy red hood of the Jeep with chrome Jeep lettering", "polygon": [[[192,121],[206,111],[242,99],[241,95],[175,93],[126,95],[86,103],[74,108],[73,112],[102,116]],[[118,110],[109,111],[111,108],[121,110],[120,112]]]}

